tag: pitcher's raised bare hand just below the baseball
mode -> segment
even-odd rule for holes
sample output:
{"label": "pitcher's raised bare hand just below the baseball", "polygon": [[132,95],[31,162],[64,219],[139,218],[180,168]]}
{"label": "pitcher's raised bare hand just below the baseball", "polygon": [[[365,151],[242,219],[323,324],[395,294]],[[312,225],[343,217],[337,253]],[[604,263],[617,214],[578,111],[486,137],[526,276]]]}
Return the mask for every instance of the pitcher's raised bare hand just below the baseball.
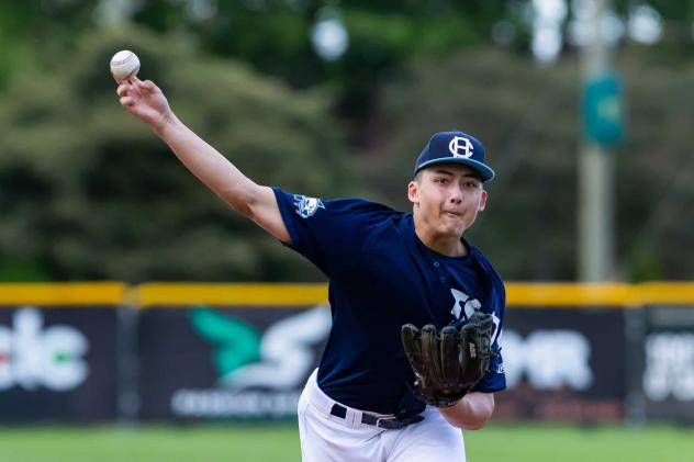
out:
{"label": "pitcher's raised bare hand just below the baseball", "polygon": [[131,77],[121,82],[116,93],[121,98],[121,105],[155,132],[175,119],[169,102],[152,80],[143,81]]}

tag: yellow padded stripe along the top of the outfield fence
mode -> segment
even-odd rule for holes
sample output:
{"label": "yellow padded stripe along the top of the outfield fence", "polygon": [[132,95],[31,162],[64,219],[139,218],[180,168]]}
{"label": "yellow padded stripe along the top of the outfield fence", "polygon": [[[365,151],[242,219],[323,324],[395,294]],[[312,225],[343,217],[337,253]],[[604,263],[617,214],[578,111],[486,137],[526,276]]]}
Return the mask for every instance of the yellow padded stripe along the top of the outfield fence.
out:
{"label": "yellow padded stripe along the top of the outfield fence", "polygon": [[[641,284],[507,283],[510,307],[638,307],[692,305],[694,283],[648,282]],[[327,284],[296,283],[146,283],[120,282],[2,283],[0,306],[312,306],[327,302]]]}

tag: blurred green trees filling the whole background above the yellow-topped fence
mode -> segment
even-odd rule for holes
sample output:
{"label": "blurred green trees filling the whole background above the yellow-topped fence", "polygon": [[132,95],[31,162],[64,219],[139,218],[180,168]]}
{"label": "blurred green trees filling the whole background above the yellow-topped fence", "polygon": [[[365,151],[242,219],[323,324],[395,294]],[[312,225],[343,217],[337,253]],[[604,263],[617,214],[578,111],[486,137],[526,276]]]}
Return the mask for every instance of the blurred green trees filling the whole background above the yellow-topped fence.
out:
{"label": "blurred green trees filling the whole background above the yellow-topped fence", "polygon": [[[0,104],[0,212],[5,219],[0,278],[317,277],[230,215],[161,143],[119,112],[105,61],[132,46],[143,57],[143,76],[165,87],[187,122],[253,178],[290,190],[348,192],[354,180],[344,168],[349,142],[360,166],[357,178],[368,179],[380,199],[407,209],[404,185],[426,137],[448,127],[478,134],[499,179],[490,184],[490,212],[471,237],[508,278],[572,279],[579,70],[566,58],[542,68],[527,59],[531,4],[0,3],[0,91],[10,91]],[[681,121],[694,108],[685,59],[694,49],[694,0],[613,4],[623,19],[651,5],[664,21],[658,44],[619,48],[629,106],[627,144],[617,153],[622,271],[627,279],[689,279],[694,256],[683,217],[692,212],[694,166]],[[345,25],[349,41],[333,60],[322,59],[311,43],[326,8]],[[93,34],[94,25],[130,22],[154,34]],[[490,31],[507,53],[481,46]],[[316,86],[318,92],[290,89]],[[334,124],[329,111],[343,125]],[[97,266],[101,256],[108,258]]]}

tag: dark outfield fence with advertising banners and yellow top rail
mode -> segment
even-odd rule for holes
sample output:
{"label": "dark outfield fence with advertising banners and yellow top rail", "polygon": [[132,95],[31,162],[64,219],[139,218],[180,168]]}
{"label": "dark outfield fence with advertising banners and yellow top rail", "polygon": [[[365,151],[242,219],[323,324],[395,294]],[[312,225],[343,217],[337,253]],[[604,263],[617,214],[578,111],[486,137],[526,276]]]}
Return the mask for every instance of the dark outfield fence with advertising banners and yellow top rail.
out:
{"label": "dark outfield fence with advertising banners and yellow top rail", "polygon": [[[694,422],[694,284],[507,284],[496,420]],[[0,421],[292,419],[325,284],[0,284]]]}

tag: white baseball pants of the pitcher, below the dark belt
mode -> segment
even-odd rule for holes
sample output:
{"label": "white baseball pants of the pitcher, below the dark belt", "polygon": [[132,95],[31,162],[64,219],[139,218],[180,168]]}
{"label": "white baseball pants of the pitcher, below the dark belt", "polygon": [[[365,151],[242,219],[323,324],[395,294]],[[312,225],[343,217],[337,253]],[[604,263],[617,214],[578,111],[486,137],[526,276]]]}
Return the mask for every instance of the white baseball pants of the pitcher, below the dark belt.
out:
{"label": "white baseball pants of the pitcher, below the dark belt", "polygon": [[361,424],[361,410],[344,406],[345,418],[331,415],[336,404],[318,387],[317,369],[299,398],[303,462],[464,462],[462,432],[427,406],[424,420],[398,430]]}

